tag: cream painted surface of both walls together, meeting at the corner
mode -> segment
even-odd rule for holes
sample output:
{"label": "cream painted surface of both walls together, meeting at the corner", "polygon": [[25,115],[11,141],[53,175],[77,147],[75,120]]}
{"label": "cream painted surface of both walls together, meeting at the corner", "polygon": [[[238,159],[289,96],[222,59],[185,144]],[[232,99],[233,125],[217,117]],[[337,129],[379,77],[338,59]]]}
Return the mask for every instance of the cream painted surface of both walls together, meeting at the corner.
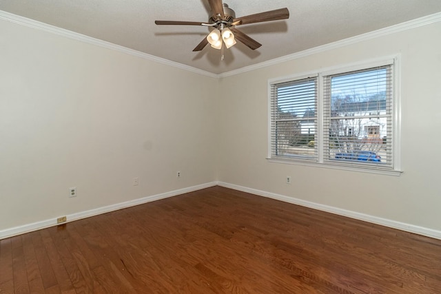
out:
{"label": "cream painted surface of both walls together, meeting at the corner", "polygon": [[[0,31],[0,238],[216,180],[441,238],[441,22],[221,79],[9,21]],[[401,176],[267,162],[270,78],[393,54]],[[216,87],[233,95],[205,95]]]}

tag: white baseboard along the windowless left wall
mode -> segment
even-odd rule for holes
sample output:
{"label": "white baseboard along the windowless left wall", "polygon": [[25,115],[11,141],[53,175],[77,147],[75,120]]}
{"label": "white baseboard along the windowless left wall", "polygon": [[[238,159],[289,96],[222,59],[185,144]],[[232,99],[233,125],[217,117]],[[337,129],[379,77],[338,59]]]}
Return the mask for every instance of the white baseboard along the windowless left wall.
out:
{"label": "white baseboard along the windowless left wall", "polygon": [[[205,183],[202,185],[196,185],[193,187],[187,187],[187,188],[169,191],[169,192],[165,192],[165,193],[161,193],[161,194],[156,194],[154,196],[147,196],[144,198],[139,198],[139,199],[130,200],[130,201],[126,201],[126,202],[116,203],[116,204],[108,205],[105,207],[99,207],[97,209],[91,209],[88,211],[81,211],[79,213],[73,213],[73,214],[66,216],[66,218],[68,219],[67,222],[72,222],[74,220],[81,220],[82,218],[89,218],[90,216],[97,216],[101,213],[116,211],[119,209],[124,209],[127,207],[132,207],[135,205],[144,204],[147,202],[161,200],[164,198],[170,198],[170,197],[178,196],[178,195],[181,195],[184,193],[189,193],[192,191],[197,191],[197,190],[201,190],[201,189],[205,189],[205,188],[209,188],[209,187],[214,187],[216,185],[218,185],[217,182],[208,182],[208,183]],[[31,231],[37,231],[40,229],[45,229],[45,228],[53,227],[56,225],[57,225],[57,218],[53,218],[53,219],[49,219],[49,220],[42,220],[40,222],[34,222],[32,224],[25,224],[25,225],[19,226],[19,227],[5,229],[5,230],[0,231],[0,240],[4,239],[4,238],[13,237],[14,235],[29,233]]]}

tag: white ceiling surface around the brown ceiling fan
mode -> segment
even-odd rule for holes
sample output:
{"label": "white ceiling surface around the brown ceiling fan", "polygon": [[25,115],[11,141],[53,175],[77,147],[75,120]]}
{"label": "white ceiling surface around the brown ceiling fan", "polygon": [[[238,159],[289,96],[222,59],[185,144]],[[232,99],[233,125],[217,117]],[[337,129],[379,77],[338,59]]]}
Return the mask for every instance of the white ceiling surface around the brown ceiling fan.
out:
{"label": "white ceiling surface around the brown ceiling fan", "polygon": [[225,0],[236,17],[288,8],[289,19],[240,25],[263,44],[225,51],[207,45],[203,26],[155,25],[155,20],[206,22],[207,0],[0,0],[0,10],[220,74],[351,36],[441,12],[441,0]]}

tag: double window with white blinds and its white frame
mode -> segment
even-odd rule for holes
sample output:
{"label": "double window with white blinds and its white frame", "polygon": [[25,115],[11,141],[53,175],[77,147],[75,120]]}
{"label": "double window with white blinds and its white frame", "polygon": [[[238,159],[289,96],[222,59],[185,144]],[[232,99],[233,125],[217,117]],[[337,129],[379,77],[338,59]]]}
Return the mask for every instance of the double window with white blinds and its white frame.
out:
{"label": "double window with white blinds and its white frame", "polygon": [[399,171],[394,67],[391,59],[270,81],[269,159]]}

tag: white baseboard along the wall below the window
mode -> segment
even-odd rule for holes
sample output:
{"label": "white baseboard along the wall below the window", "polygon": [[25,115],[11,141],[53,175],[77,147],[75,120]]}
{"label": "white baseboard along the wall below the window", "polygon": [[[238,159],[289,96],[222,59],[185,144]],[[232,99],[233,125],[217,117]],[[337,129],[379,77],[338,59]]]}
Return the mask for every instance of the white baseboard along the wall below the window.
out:
{"label": "white baseboard along the wall below the window", "polygon": [[292,203],[292,204],[298,204],[302,207],[309,207],[311,209],[317,209],[320,211],[326,211],[329,213],[334,213],[334,214],[338,214],[340,216],[347,216],[348,218],[355,218],[356,220],[364,220],[365,222],[371,222],[373,224],[380,224],[384,227],[390,227],[393,229],[398,229],[401,231],[407,231],[410,233],[416,233],[418,235],[424,235],[430,238],[435,238],[435,239],[440,239],[441,240],[441,231],[437,231],[434,229],[428,229],[428,228],[424,228],[424,227],[419,227],[413,224],[406,224],[404,222],[397,222],[395,220],[388,220],[387,218],[378,218],[376,216],[369,216],[368,214],[365,213],[358,213],[355,211],[349,211],[346,209],[340,209],[337,207],[331,207],[328,205],[324,205],[324,204],[318,204],[318,203],[314,203],[314,202],[309,202],[306,200],[301,200],[298,198],[292,198],[292,197],[288,197],[288,196],[283,196],[280,194],[276,194],[276,193],[270,193],[267,191],[260,191],[257,189],[252,189],[252,188],[247,188],[247,187],[243,187],[243,186],[238,186],[238,185],[234,185],[234,184],[229,184],[227,182],[218,182],[218,185],[221,187],[226,187],[226,188],[230,188],[230,189],[234,189],[234,190],[238,190],[238,191],[243,191],[243,192],[247,192],[247,193],[252,193],[255,194],[257,196],[263,196],[263,197],[267,197],[267,198],[272,198],[275,200],[280,200],[283,202],[288,202],[288,203]]}

